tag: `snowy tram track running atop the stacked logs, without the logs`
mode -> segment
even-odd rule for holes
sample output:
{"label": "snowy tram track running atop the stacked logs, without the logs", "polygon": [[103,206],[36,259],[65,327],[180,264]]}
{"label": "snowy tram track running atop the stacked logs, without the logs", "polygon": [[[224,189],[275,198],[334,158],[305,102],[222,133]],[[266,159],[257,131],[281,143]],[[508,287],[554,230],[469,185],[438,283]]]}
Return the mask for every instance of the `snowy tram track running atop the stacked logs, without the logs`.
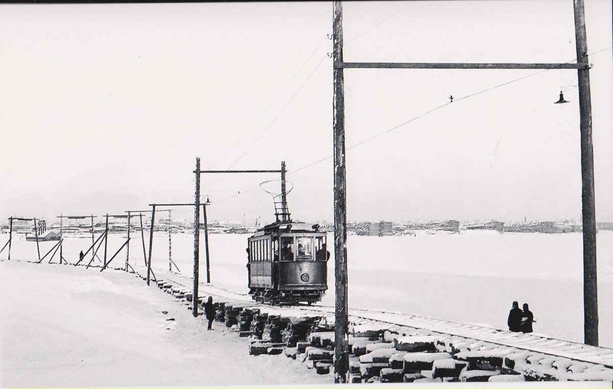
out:
{"label": "snowy tram track running atop the stacked logs, without the logs", "polygon": [[[186,290],[192,289],[191,278],[182,274],[170,273],[169,271],[156,270],[159,279],[172,282]],[[212,295],[224,301],[233,303],[244,303],[249,306],[257,306],[264,311],[279,312],[283,315],[304,315],[310,313],[326,317],[333,322],[333,306],[326,305],[299,305],[299,306],[270,306],[257,303],[246,293],[237,293],[232,290],[222,289],[208,284],[200,284],[202,295]],[[199,293],[199,294],[200,294]],[[607,368],[613,368],[613,349],[609,347],[588,346],[579,342],[555,339],[539,334],[512,333],[509,331],[498,330],[496,328],[470,325],[466,323],[454,322],[451,320],[441,320],[432,317],[405,314],[402,312],[379,311],[375,309],[349,308],[349,322],[353,325],[378,325],[379,328],[387,327],[390,330],[402,331],[402,328],[419,328],[432,331],[433,333],[460,336],[475,341],[488,342],[501,347],[511,347],[518,350],[542,353],[553,357],[569,358],[571,360],[583,361],[587,363],[602,364]]]}

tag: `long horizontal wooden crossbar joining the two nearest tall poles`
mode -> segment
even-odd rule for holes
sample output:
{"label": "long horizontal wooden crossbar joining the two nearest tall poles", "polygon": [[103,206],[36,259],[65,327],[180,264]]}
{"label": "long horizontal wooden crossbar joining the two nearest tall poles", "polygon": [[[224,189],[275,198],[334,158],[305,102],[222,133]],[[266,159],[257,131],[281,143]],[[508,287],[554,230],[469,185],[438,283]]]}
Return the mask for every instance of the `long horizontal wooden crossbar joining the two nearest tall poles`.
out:
{"label": "long horizontal wooden crossbar joining the two nearest tall poles", "polygon": [[335,62],[334,69],[589,69],[588,64]]}

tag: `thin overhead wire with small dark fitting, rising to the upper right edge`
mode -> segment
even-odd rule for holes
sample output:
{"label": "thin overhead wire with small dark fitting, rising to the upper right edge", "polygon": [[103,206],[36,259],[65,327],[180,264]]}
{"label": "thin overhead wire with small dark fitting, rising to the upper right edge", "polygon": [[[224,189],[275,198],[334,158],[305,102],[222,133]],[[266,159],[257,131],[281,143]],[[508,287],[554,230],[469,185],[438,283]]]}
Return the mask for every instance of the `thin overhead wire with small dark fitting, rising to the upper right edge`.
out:
{"label": "thin overhead wire with small dark fitting, rising to the upper right edge", "polygon": [[[601,52],[606,51],[606,50],[611,50],[611,48],[613,48],[613,46],[612,46],[612,47],[603,48],[603,49],[601,49],[601,50],[594,51],[594,52],[592,52],[592,53],[590,53],[590,50],[588,50],[588,53],[590,53],[590,55],[595,55],[595,54],[601,53]],[[492,87],[490,87],[490,88],[485,88],[485,89],[482,89],[481,91],[478,91],[478,92],[475,92],[475,93],[471,93],[471,94],[467,94],[466,96],[462,96],[462,97],[459,97],[459,98],[457,98],[457,99],[456,99],[456,98],[454,98],[454,101],[453,101],[453,102],[458,102],[458,101],[460,101],[460,100],[468,99],[469,97],[477,96],[477,95],[479,95],[479,94],[486,93],[486,92],[488,92],[488,91],[492,91],[493,89],[497,89],[497,88],[500,88],[500,87],[502,87],[502,86],[506,86],[506,85],[509,85],[509,84],[511,84],[511,83],[515,83],[515,82],[517,82],[517,81],[525,80],[525,78],[532,77],[532,76],[535,76],[535,75],[541,74],[541,73],[543,73],[543,72],[547,72],[548,70],[560,69],[560,67],[561,67],[561,66],[563,66],[563,65],[565,65],[565,64],[570,64],[571,62],[576,61],[577,59],[578,59],[578,58],[574,58],[574,59],[571,59],[571,60],[570,60],[570,61],[568,61],[568,62],[564,62],[563,64],[558,64],[557,66],[552,66],[552,67],[549,67],[549,68],[547,68],[547,69],[540,70],[539,72],[534,72],[534,73],[531,73],[531,74],[525,75],[525,76],[523,76],[523,77],[514,78],[514,79],[513,79],[513,80],[511,80],[511,81],[507,81],[507,82],[504,82],[504,83],[501,83],[501,84],[498,84],[498,85],[492,86]],[[321,63],[321,62],[320,62],[320,63]],[[447,102],[446,104],[439,105],[438,107],[436,107],[436,108],[432,108],[431,110],[428,110],[428,111],[426,111],[426,112],[424,112],[424,113],[422,113],[422,114],[420,114],[420,115],[417,115],[417,116],[415,116],[414,118],[411,118],[411,119],[409,119],[409,120],[407,120],[407,121],[405,121],[405,122],[403,122],[403,123],[397,124],[396,126],[391,127],[390,129],[384,130],[383,132],[379,132],[378,134],[373,135],[373,136],[372,136],[372,137],[370,137],[370,138],[367,138],[367,139],[362,140],[362,141],[360,141],[360,142],[358,142],[358,143],[356,143],[356,144],[354,144],[354,145],[349,146],[348,148],[346,148],[346,149],[345,149],[345,151],[349,151],[349,150],[351,150],[351,149],[353,149],[353,148],[356,148],[357,146],[364,145],[364,143],[370,142],[371,140],[374,140],[375,138],[381,137],[381,136],[382,136],[382,135],[384,135],[384,134],[387,134],[387,133],[389,133],[389,132],[391,132],[391,131],[393,131],[393,130],[395,130],[395,129],[398,129],[398,128],[402,127],[402,126],[405,126],[406,124],[409,124],[409,123],[411,123],[411,122],[413,122],[413,121],[416,121],[417,119],[422,118],[422,117],[424,117],[424,116],[426,116],[426,115],[428,115],[428,114],[430,114],[430,113],[433,113],[434,111],[437,111],[437,110],[440,110],[441,108],[447,107],[447,105],[453,104],[453,102],[451,102],[451,101],[450,101],[450,102]],[[330,158],[332,158],[332,155],[329,155],[329,156],[323,157],[323,158],[318,159],[317,161],[314,161],[314,162],[310,162],[310,163],[309,163],[309,164],[307,164],[307,165],[304,165],[304,166],[302,166],[302,167],[300,167],[300,168],[297,168],[297,169],[295,169],[295,170],[291,170],[290,172],[287,172],[287,173],[286,173],[286,176],[287,176],[287,175],[291,175],[291,174],[296,173],[296,172],[300,172],[300,170],[304,170],[304,169],[306,169],[306,168],[308,168],[308,167],[311,167],[311,166],[313,166],[313,165],[319,164],[320,162],[326,161],[327,159],[330,159]],[[278,180],[278,179],[273,179],[273,180],[270,180],[270,181],[277,181],[277,180]],[[239,196],[239,195],[241,195],[241,194],[244,194],[244,193],[247,193],[247,192],[251,192],[251,191],[253,191],[254,189],[257,189],[257,187],[259,187],[259,185],[256,185],[256,186],[254,186],[254,187],[250,187],[249,189],[246,189],[245,191],[238,191],[238,192],[237,192],[237,194],[235,194],[235,195],[232,195],[232,196],[230,196],[230,197],[224,198],[224,199],[219,200],[219,201],[217,201],[217,202],[211,202],[211,204],[214,204],[214,203],[221,203],[221,202],[226,202],[227,200],[230,200],[231,198],[235,198],[235,197],[237,197],[237,196]]]}

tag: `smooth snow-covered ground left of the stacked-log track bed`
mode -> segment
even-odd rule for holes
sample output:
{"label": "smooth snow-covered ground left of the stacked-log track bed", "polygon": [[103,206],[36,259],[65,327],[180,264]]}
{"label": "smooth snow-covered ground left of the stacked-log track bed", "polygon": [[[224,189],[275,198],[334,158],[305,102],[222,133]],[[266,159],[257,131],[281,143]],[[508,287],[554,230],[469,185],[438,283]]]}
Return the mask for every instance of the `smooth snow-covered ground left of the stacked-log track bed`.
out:
{"label": "smooth snow-covered ground left of the stacked-log track bed", "polygon": [[[331,383],[120,271],[0,262],[1,387]],[[167,311],[164,314],[162,311]],[[169,320],[174,319],[174,320]]]}

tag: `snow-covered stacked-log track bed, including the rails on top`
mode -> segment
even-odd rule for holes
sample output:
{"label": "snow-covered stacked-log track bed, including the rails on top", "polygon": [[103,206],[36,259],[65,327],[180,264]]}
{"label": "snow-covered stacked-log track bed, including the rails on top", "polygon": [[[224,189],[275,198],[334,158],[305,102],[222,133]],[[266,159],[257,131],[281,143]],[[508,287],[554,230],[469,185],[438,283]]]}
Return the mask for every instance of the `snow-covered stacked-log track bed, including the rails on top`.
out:
{"label": "snow-covered stacked-log track bed, including the rails on top", "polygon": [[[179,296],[189,295],[191,279],[159,276]],[[330,372],[333,307],[270,306],[207,284],[200,284],[199,295],[224,301],[216,304],[216,319],[250,337],[252,355],[284,353],[319,374]],[[613,349],[607,347],[373,309],[349,309],[349,322],[352,382],[613,380]]]}

